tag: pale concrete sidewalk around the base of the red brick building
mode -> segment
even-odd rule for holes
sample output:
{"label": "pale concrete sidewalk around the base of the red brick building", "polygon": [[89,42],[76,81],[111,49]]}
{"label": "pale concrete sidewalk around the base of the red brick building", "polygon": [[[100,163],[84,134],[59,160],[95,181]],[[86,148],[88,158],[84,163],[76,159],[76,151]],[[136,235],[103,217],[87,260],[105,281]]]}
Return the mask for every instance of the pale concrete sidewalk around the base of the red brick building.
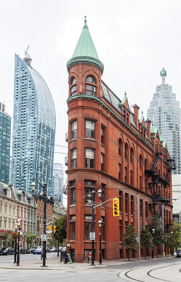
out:
{"label": "pale concrete sidewalk around the base of the red brick building", "polygon": [[[167,255],[164,259],[168,259],[168,258],[175,258],[176,256],[171,256],[171,255]],[[76,270],[89,270],[92,268],[102,268],[105,266],[117,266],[117,265],[123,265],[123,264],[130,264],[130,263],[136,263],[136,262],[147,262],[149,260],[151,261],[155,261],[155,260],[163,260],[163,257],[161,255],[158,255],[157,257],[154,257],[153,259],[151,257],[146,257],[146,260],[144,257],[141,257],[141,261],[138,261],[138,258],[131,258],[130,261],[128,262],[128,259],[119,259],[119,260],[113,260],[113,261],[106,261],[103,260],[102,265],[99,265],[99,262],[95,262],[95,265],[92,266],[91,262],[90,263],[69,263],[67,262],[67,264],[64,264],[64,262],[60,262],[60,257],[57,257],[57,255],[55,255],[53,258],[46,259],[46,266],[47,267],[42,267],[43,265],[43,261],[42,260],[32,260],[32,261],[21,261],[20,258],[20,266],[16,266],[16,264],[13,263],[3,263],[3,266],[0,264],[0,268],[5,268],[5,269],[32,269],[32,270],[45,270],[45,269],[49,269],[49,270],[66,270],[66,269],[70,269],[70,268],[75,268]]]}

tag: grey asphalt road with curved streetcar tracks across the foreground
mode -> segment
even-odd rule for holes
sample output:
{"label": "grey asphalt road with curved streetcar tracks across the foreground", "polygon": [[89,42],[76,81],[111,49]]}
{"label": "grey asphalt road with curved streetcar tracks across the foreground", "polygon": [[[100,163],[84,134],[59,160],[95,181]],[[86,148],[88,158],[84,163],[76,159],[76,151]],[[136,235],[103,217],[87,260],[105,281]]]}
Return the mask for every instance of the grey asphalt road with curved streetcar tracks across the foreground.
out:
{"label": "grey asphalt road with curved streetcar tracks across the foreground", "polygon": [[[56,253],[48,253],[47,256],[54,256]],[[24,257],[23,257],[24,256]],[[0,257],[0,259],[10,259],[13,256]],[[21,255],[21,259],[34,259],[35,255]],[[36,255],[37,260],[40,259]],[[12,263],[12,260],[11,260]],[[3,262],[0,261],[3,267]],[[20,270],[20,269],[1,269],[0,280],[2,282],[12,282],[20,280],[29,280],[33,282],[53,282],[63,279],[65,282],[161,282],[171,281],[180,282],[180,258],[170,258],[158,261],[144,261],[132,264],[124,264],[119,266],[106,266],[102,268],[94,268],[87,270],[76,270],[76,267],[69,267],[66,270]],[[129,271],[129,272],[128,272]],[[125,274],[128,274],[128,277]],[[149,275],[148,275],[149,273]]]}

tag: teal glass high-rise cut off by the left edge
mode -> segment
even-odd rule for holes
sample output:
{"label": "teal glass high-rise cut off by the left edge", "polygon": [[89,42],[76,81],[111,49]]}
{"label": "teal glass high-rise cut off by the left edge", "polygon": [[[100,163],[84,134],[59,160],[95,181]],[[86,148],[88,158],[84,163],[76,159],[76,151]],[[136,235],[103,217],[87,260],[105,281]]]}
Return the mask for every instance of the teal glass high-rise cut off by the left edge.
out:
{"label": "teal glass high-rise cut off by the left edge", "polygon": [[9,184],[11,116],[0,102],[0,181]]}

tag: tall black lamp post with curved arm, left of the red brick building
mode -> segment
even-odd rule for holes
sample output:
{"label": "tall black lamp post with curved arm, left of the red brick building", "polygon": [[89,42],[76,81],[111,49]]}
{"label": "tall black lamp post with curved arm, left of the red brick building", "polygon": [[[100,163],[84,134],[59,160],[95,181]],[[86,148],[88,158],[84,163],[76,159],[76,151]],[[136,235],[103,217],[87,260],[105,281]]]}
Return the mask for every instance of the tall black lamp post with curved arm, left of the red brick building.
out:
{"label": "tall black lamp post with curved arm, left of the red brick building", "polygon": [[[33,182],[31,183],[31,189],[34,193],[35,191],[35,181],[36,179],[33,179]],[[36,180],[38,183],[39,181]],[[44,192],[44,216],[43,216],[43,234],[46,235],[46,207],[47,207],[47,184],[44,184],[44,186],[42,186],[40,183],[39,185],[42,187],[43,192]],[[45,236],[46,237],[46,236]],[[46,259],[46,241],[43,241],[43,267],[45,267],[45,259]]]}

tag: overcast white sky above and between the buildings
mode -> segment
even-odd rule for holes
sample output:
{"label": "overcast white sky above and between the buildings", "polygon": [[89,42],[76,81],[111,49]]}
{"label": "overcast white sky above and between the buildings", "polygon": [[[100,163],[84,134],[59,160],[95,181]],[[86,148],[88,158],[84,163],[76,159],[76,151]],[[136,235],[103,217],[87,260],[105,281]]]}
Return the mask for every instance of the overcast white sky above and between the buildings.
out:
{"label": "overcast white sky above and between the buildings", "polygon": [[[13,116],[14,53],[24,58],[47,83],[56,111],[56,145],[67,146],[68,74],[66,63],[80,37],[84,16],[100,60],[102,80],[122,100],[150,105],[160,70],[167,71],[180,101],[180,0],[31,0],[3,1],[0,11],[0,101]],[[64,165],[67,148],[55,146],[54,162]],[[64,170],[67,167],[64,165]]]}

